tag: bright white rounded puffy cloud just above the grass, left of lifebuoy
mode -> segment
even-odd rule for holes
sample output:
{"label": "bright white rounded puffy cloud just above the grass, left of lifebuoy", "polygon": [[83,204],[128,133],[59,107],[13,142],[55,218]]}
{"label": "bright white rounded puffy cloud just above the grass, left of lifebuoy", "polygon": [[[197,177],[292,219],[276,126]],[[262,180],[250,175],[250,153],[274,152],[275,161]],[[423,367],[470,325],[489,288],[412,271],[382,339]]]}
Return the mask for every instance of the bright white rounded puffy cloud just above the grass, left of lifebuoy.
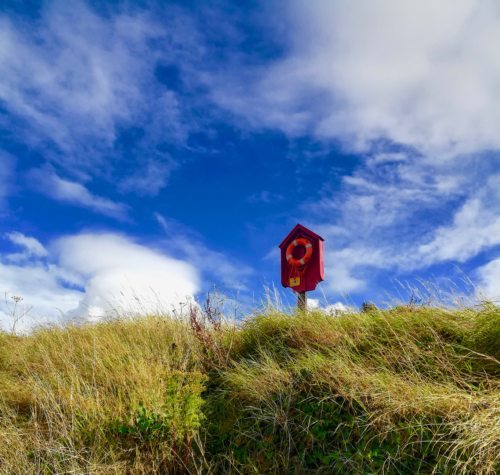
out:
{"label": "bright white rounded puffy cloud just above the grass, left of lifebuoy", "polygon": [[168,312],[199,290],[193,265],[122,236],[80,234],[53,248],[59,265],[85,282],[76,315]]}

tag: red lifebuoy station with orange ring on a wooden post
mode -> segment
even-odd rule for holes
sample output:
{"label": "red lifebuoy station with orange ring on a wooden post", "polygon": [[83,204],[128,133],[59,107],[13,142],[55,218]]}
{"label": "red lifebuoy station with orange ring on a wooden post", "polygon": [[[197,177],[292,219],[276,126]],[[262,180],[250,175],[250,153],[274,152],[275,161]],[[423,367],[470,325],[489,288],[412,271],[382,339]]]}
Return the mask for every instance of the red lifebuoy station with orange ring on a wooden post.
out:
{"label": "red lifebuoy station with orange ring on a wooden post", "polygon": [[279,245],[281,284],[298,294],[299,307],[306,307],[306,292],[314,290],[325,278],[324,239],[302,224],[297,224]]}

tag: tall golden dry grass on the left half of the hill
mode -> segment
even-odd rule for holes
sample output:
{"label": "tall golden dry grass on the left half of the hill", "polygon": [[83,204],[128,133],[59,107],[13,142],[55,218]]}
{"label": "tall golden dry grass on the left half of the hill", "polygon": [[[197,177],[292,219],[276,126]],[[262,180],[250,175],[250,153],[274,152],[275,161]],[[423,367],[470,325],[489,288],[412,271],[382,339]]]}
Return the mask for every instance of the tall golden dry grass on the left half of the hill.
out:
{"label": "tall golden dry grass on the left half of the hill", "polygon": [[3,335],[0,345],[3,473],[151,473],[183,462],[205,379],[185,324],[115,321]]}

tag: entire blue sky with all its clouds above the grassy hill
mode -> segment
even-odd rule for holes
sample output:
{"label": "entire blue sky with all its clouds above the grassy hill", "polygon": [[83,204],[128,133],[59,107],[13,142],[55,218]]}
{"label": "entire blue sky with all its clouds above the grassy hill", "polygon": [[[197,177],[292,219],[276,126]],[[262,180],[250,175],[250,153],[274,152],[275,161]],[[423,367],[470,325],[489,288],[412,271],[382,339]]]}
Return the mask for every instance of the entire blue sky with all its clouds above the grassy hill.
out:
{"label": "entire blue sky with all its clouds above the grassy hill", "polygon": [[297,222],[321,306],[499,298],[499,41],[495,1],[2,2],[1,325],[255,308]]}

